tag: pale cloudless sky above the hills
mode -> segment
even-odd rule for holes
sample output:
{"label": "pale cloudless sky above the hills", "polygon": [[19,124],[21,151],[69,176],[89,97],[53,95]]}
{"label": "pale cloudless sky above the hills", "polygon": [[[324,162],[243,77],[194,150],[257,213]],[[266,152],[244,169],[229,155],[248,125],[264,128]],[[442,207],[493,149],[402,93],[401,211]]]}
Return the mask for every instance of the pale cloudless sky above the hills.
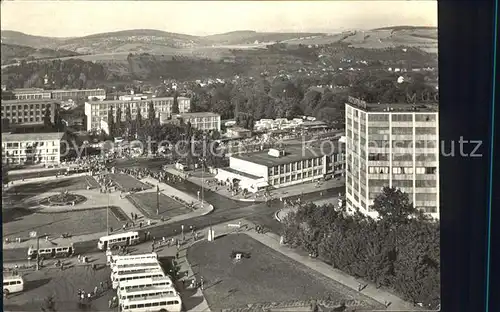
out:
{"label": "pale cloudless sky above the hills", "polygon": [[26,1],[4,0],[2,30],[77,37],[157,29],[189,35],[236,30],[338,32],[437,26],[437,1]]}

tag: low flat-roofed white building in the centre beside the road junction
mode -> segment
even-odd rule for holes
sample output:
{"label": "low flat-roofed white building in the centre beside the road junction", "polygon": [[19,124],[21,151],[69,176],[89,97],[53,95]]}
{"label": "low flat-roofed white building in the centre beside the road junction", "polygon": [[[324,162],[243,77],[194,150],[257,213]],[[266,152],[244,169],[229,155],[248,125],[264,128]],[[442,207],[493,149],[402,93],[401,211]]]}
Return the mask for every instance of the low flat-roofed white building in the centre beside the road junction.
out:
{"label": "low flat-roofed white building in the centre beside the road junction", "polygon": [[217,170],[219,181],[255,193],[268,186],[280,188],[328,176],[344,175],[345,157],[341,142],[308,147],[288,146],[233,155],[229,167]]}

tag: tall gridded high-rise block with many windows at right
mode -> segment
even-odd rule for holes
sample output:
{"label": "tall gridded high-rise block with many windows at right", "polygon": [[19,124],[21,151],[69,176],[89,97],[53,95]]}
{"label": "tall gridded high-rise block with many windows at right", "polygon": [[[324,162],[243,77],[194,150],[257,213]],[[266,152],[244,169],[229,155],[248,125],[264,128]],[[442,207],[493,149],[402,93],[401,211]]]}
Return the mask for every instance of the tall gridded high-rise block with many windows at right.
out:
{"label": "tall gridded high-rise block with many windows at right", "polygon": [[384,186],[439,218],[437,105],[346,103],[346,207],[376,217],[370,206]]}

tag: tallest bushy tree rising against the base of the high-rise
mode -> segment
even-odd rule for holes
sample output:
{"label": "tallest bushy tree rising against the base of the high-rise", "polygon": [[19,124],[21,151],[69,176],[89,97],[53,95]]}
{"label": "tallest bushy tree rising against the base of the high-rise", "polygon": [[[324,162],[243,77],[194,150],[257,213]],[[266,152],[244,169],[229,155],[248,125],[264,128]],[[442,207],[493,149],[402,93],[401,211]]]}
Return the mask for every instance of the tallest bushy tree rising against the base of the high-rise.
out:
{"label": "tallest bushy tree rising against the base of the high-rise", "polygon": [[418,210],[413,207],[408,194],[387,186],[375,198],[371,208],[378,212],[381,220],[389,224],[407,223],[410,216],[418,214]]}

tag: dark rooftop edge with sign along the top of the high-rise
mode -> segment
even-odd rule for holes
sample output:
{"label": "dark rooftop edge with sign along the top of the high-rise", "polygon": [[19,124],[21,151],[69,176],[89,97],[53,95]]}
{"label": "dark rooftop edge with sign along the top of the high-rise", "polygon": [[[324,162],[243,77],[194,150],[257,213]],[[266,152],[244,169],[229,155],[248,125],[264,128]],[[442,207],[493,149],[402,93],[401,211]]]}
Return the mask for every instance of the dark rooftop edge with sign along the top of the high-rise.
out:
{"label": "dark rooftop edge with sign along the top of the high-rise", "polygon": [[349,97],[346,103],[365,112],[435,112],[439,110],[437,103],[366,103],[363,100]]}

